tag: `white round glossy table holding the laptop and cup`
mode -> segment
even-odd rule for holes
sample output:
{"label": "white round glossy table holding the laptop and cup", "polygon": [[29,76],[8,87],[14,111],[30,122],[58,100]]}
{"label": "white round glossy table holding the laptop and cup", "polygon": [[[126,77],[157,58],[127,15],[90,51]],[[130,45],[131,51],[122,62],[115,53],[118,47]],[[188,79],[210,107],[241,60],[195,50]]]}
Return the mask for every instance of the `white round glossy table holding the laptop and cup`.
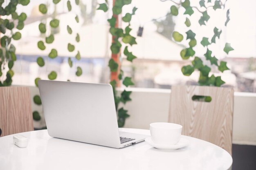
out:
{"label": "white round glossy table holding the laptop and cup", "polygon": [[0,170],[227,170],[232,164],[227,151],[187,136],[190,144],[184,148],[158,150],[144,141],[121,149],[85,144],[50,137],[47,130],[19,135],[29,139],[27,148],[14,145],[13,135],[0,137]]}

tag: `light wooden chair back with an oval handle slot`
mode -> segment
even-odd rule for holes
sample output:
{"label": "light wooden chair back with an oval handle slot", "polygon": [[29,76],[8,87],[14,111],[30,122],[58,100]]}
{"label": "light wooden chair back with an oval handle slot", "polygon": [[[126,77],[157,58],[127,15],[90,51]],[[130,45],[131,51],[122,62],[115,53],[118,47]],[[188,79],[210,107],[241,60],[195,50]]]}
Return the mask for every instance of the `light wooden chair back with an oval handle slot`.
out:
{"label": "light wooden chair back with an oval handle slot", "polygon": [[[211,102],[193,101],[194,95]],[[181,124],[182,134],[209,141],[232,153],[234,91],[210,86],[172,86],[168,121]]]}

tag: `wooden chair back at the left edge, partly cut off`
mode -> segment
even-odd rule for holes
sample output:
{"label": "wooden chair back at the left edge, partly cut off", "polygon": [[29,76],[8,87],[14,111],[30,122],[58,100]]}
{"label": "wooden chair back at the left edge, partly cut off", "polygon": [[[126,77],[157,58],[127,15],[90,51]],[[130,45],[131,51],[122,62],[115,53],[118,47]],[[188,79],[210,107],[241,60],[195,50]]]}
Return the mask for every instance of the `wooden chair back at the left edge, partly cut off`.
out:
{"label": "wooden chair back at the left edge, partly cut off", "polygon": [[0,137],[34,130],[29,88],[0,87],[0,128]]}

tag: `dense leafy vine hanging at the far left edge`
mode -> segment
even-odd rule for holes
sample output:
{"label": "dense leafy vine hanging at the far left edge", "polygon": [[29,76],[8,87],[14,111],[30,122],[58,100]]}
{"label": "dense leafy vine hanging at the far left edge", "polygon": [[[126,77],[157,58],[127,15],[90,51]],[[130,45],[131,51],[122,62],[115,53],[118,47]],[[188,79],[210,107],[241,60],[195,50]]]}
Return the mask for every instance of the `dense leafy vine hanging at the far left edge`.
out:
{"label": "dense leafy vine hanging at the far left edge", "polygon": [[26,6],[29,2],[29,0],[0,0],[0,86],[10,86],[12,83],[16,48],[11,42],[20,40],[19,30],[23,29],[24,21],[27,19],[26,13],[18,14],[16,9],[19,4]]}

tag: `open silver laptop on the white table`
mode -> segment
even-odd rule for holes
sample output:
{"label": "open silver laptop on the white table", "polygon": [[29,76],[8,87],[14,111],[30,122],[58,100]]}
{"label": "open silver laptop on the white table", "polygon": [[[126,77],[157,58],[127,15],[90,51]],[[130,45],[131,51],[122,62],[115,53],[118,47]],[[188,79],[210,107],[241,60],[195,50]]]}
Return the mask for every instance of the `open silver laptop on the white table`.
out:
{"label": "open silver laptop on the white table", "polygon": [[50,136],[88,144],[124,148],[148,135],[119,132],[110,84],[39,80]]}

